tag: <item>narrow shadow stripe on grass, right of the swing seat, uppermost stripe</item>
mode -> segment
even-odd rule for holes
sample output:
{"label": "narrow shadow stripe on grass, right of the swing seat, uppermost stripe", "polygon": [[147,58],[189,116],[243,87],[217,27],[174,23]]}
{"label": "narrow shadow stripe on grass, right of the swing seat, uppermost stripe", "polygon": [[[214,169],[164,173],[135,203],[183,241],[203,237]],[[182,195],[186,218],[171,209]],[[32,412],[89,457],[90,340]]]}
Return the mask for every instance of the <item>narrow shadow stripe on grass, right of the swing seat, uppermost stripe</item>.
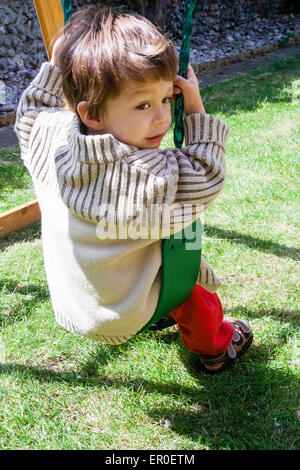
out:
{"label": "narrow shadow stripe on grass, right of the swing seat, uppermost stripe", "polygon": [[279,245],[278,243],[274,243],[270,240],[261,240],[260,238],[252,237],[248,234],[235,232],[234,230],[226,230],[216,227],[215,225],[205,225],[204,233],[212,238],[221,238],[229,242],[247,245],[252,249],[272,253],[279,258],[291,258],[293,260],[300,259],[300,250],[297,248]]}

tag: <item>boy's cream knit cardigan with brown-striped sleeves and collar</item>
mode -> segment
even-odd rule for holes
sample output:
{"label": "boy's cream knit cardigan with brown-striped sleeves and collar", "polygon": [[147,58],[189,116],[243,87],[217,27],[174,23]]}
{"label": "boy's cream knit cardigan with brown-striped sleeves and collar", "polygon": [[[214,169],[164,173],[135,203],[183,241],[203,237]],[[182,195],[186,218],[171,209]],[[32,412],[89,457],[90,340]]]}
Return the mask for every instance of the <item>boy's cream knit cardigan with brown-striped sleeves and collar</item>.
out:
{"label": "boy's cream knit cardigan with brown-striped sleeves and collar", "polygon": [[[67,330],[120,344],[155,312],[161,240],[145,233],[99,238],[97,227],[104,216],[130,224],[133,205],[144,210],[166,204],[177,215],[169,227],[160,221],[163,237],[175,230],[176,218],[183,219],[184,204],[206,209],[224,186],[228,128],[211,115],[195,114],[185,119],[185,148],[140,150],[111,134],[84,135],[62,103],[60,69],[46,62],[23,93],[15,124],[42,213],[51,301]],[[220,284],[204,259],[197,282],[211,292]]]}

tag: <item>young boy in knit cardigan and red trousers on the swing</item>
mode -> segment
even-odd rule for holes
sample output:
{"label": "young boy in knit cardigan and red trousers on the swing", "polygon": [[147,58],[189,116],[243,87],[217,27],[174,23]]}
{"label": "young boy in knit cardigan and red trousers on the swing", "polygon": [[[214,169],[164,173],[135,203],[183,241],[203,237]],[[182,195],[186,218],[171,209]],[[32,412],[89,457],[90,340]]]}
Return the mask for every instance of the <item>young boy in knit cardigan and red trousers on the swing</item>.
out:
{"label": "young boy in knit cardigan and red trousers on the swing", "polygon": [[[15,130],[42,213],[51,300],[69,331],[111,344],[137,334],[158,303],[161,238],[186,203],[206,209],[224,186],[228,128],[205,114],[192,67],[187,79],[176,73],[172,44],[148,20],[89,7],[73,15],[20,100]],[[186,147],[162,151],[179,92]],[[169,222],[159,214],[159,237],[146,223],[140,237],[120,236],[133,233],[136,213],[148,222],[152,206],[177,210]],[[104,236],[106,224],[120,231]],[[203,259],[193,293],[171,312],[213,373],[252,341],[246,322],[224,321],[218,285]]]}

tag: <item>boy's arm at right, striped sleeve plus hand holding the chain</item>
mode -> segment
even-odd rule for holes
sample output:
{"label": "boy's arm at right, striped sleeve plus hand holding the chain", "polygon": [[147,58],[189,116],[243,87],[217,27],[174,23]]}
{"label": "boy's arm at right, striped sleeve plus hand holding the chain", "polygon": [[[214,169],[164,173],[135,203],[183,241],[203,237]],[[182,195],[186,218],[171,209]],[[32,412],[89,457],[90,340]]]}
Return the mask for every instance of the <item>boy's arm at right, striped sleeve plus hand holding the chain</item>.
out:
{"label": "boy's arm at right, striped sleeve plus hand holding the chain", "polygon": [[[139,150],[128,157],[128,162],[152,175],[143,190],[146,205],[157,201],[170,207],[170,210],[174,208],[174,220],[180,223],[188,205],[193,215],[199,214],[223,189],[226,177],[225,142],[229,130],[220,119],[205,114],[198,80],[191,66],[187,79],[178,76],[174,85],[175,94],[182,91],[184,95],[186,146],[163,151],[157,149],[152,151],[151,159],[148,150]],[[176,89],[179,86],[180,90]],[[168,227],[162,227],[162,236],[165,229]]]}

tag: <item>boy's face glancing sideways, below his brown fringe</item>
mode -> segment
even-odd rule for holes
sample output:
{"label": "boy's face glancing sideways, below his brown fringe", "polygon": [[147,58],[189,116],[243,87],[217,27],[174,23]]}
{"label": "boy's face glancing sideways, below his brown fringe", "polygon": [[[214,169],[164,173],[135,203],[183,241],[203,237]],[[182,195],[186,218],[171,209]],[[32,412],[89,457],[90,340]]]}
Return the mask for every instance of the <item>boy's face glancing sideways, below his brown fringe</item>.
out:
{"label": "boy's face glancing sideways, below his brown fringe", "polygon": [[171,125],[172,95],[172,80],[129,80],[120,96],[107,102],[101,133],[140,149],[159,147]]}

